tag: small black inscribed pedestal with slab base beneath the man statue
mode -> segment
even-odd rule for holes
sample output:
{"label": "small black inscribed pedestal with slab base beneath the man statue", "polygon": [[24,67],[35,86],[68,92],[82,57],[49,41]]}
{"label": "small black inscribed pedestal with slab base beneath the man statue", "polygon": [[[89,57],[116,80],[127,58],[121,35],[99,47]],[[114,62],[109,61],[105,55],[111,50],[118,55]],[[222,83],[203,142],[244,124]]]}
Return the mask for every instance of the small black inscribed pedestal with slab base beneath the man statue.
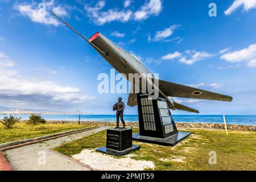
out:
{"label": "small black inscribed pedestal with slab base beneath the man statue", "polygon": [[131,129],[109,129],[107,130],[106,147],[96,150],[115,156],[127,155],[131,151],[141,148],[133,145],[132,135]]}

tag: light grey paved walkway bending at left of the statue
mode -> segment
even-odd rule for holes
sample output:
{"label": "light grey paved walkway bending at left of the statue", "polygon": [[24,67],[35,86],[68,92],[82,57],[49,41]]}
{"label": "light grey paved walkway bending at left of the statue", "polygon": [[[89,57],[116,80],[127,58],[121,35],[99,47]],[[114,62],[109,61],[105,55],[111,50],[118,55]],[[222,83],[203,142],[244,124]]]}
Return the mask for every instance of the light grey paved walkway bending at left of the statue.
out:
{"label": "light grey paved walkway bending at left of the statue", "polygon": [[31,144],[5,152],[8,155],[11,167],[15,171],[89,171],[91,170],[90,167],[82,166],[80,163],[66,156],[59,155],[52,151],[51,148],[108,128],[102,126],[97,129]]}

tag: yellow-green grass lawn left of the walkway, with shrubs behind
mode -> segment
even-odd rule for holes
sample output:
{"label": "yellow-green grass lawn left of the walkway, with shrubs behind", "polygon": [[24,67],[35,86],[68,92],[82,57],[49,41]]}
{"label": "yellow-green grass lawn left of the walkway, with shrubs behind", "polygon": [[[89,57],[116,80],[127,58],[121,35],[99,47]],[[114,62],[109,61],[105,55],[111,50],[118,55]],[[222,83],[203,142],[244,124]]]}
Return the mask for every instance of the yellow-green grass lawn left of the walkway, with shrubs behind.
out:
{"label": "yellow-green grass lawn left of the walkway, with shrubs behind", "polygon": [[[40,129],[44,126],[44,129]],[[26,123],[16,123],[13,129],[7,129],[0,123],[0,143],[12,142],[15,140],[40,137],[43,135],[60,133],[63,131],[82,129],[91,127],[92,125],[76,125],[76,124],[39,124],[29,125]]]}

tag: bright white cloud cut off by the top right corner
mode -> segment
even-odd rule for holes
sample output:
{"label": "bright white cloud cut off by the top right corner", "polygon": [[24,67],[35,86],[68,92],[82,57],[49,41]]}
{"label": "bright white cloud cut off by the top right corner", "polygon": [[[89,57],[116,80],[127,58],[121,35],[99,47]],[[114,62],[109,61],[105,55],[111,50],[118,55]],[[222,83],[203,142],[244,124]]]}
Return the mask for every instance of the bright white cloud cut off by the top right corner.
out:
{"label": "bright white cloud cut off by the top right corner", "polygon": [[243,6],[243,11],[248,11],[249,9],[256,8],[256,0],[235,0],[233,4],[226,10],[225,15],[230,15],[238,9],[238,7]]}

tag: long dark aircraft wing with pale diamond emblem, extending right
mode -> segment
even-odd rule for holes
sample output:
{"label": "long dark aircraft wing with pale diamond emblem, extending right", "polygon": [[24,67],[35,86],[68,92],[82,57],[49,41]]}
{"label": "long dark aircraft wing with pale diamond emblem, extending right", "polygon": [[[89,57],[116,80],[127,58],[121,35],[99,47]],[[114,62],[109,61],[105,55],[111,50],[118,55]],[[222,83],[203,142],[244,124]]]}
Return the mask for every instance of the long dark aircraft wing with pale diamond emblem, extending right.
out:
{"label": "long dark aircraft wing with pale diamond emblem, extending right", "polygon": [[233,98],[230,96],[225,96],[222,94],[193,88],[191,86],[175,84],[173,82],[168,82],[164,80],[159,80],[159,89],[162,90],[164,94],[170,97],[197,98],[197,99],[214,100],[214,101],[232,101],[233,100]]}

